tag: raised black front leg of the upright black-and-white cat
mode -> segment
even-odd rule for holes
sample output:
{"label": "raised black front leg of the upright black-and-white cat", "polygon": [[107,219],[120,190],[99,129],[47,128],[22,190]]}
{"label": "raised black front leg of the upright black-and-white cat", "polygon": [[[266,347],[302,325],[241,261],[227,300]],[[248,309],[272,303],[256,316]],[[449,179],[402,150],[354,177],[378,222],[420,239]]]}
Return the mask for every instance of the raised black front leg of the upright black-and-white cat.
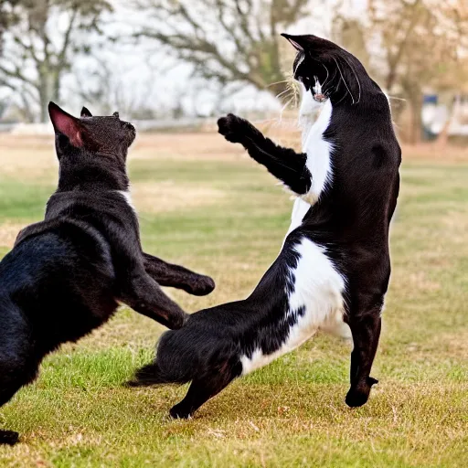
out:
{"label": "raised black front leg of the upright black-and-white cat", "polygon": [[307,154],[297,154],[293,149],[274,144],[245,119],[229,113],[218,120],[219,133],[231,143],[239,143],[250,157],[280,179],[297,195],[306,194],[312,184],[312,176],[305,163]]}

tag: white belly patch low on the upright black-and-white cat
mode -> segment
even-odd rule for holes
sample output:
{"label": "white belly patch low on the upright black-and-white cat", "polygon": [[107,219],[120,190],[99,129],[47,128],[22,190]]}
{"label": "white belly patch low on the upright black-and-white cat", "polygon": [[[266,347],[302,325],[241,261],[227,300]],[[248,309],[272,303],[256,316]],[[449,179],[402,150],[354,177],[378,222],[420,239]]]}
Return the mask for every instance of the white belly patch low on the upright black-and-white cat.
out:
{"label": "white belly patch low on the upright black-and-white cat", "polygon": [[293,351],[323,327],[342,324],[345,311],[343,293],[345,280],[335,270],[323,247],[303,238],[294,246],[300,256],[297,266],[290,271],[293,293],[288,294],[286,316],[298,314],[282,346],[272,354],[264,355],[261,348],[252,356],[241,356],[242,374],[263,367],[279,356]]}

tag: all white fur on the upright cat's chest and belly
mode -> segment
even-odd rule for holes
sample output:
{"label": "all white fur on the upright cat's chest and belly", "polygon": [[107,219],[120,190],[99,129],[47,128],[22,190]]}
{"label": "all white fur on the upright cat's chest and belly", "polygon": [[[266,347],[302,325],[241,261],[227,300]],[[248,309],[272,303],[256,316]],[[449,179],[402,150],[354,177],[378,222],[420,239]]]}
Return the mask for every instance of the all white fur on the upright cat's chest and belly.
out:
{"label": "all white fur on the upright cat's chest and belly", "polygon": [[[317,112],[319,117],[315,120]],[[324,131],[330,124],[333,107],[330,100],[323,103],[314,100],[312,92],[303,92],[299,113],[303,125],[303,151],[307,154],[306,166],[312,175],[312,186],[307,194],[296,198],[288,235],[299,228],[309,208],[317,202],[327,184],[333,180],[331,153],[333,146],[324,140]],[[284,242],[286,241],[284,239]],[[284,243],[283,243],[284,246]],[[274,359],[289,353],[312,337],[319,329],[349,338],[350,330],[343,320],[345,312],[344,291],[346,280],[335,270],[324,247],[303,238],[294,246],[300,259],[291,271],[294,279],[293,293],[288,297],[288,314],[296,314],[304,308],[296,324],[280,349],[271,355],[263,355],[257,348],[252,356],[241,356],[242,373],[266,366]]]}

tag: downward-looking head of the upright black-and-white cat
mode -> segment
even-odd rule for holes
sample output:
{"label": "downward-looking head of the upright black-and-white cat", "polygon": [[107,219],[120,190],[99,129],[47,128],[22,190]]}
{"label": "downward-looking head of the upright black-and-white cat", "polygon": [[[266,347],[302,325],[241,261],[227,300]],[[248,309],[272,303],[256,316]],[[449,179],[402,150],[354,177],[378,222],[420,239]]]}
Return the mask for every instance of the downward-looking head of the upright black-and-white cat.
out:
{"label": "downward-looking head of the upright black-and-white cat", "polygon": [[328,99],[333,105],[358,105],[369,92],[379,90],[361,62],[344,48],[313,35],[282,36],[297,50],[293,76],[303,84],[304,99],[311,106]]}

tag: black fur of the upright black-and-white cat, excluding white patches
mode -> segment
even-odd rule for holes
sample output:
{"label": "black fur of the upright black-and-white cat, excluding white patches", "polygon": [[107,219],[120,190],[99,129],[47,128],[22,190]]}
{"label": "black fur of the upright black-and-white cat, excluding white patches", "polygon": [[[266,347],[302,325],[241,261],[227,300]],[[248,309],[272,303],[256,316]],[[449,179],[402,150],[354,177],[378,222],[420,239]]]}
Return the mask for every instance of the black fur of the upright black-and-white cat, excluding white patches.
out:
{"label": "black fur of the upright black-and-white cat, excluding white patches", "polygon": [[[239,377],[240,356],[251,356],[258,347],[271,354],[285,342],[290,325],[303,314],[288,310],[287,299],[294,288],[288,275],[297,262],[293,248],[304,238],[323,246],[346,278],[345,320],[354,341],[346,403],[365,404],[377,383],[369,374],[390,276],[388,229],[399,195],[401,161],[388,100],[346,50],[314,36],[288,38],[299,51],[295,78],[315,93],[318,77],[332,101],[324,139],[334,145],[333,181],[285,239],[280,256],[248,299],[192,314],[182,329],[163,335],[154,364],[136,374],[134,386],[192,381],[186,398],[171,410],[175,417],[190,416]],[[314,177],[305,167],[307,154],[273,144],[232,114],[218,125],[219,133],[243,144],[298,195],[307,192]]]}

